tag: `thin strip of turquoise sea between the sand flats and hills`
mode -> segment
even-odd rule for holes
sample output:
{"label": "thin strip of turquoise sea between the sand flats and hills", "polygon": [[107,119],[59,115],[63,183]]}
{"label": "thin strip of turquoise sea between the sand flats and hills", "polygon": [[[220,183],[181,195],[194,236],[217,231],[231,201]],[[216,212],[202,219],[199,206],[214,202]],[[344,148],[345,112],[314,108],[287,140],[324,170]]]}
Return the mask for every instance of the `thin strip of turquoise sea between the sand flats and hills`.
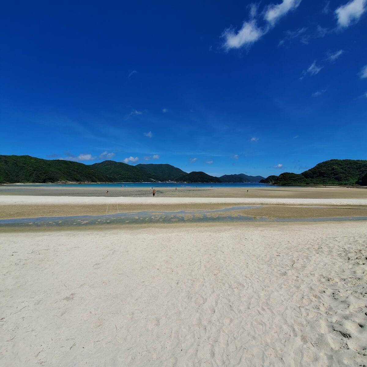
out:
{"label": "thin strip of turquoise sea between the sand flats and hills", "polygon": [[[95,188],[116,188],[116,187],[124,187],[124,188],[264,188],[264,187],[280,187],[267,185],[265,183],[165,183],[165,182],[118,182],[118,183],[80,183],[80,184],[58,184],[58,183],[26,183],[26,184],[18,184],[20,186],[26,187],[95,187]],[[11,185],[14,186],[14,185]]]}

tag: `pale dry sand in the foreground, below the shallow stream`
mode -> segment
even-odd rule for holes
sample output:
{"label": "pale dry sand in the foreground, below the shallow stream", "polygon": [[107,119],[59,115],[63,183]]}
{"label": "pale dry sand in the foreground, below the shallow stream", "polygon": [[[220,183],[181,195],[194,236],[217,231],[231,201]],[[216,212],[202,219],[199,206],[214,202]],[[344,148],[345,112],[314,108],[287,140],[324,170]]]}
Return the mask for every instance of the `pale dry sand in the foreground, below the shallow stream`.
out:
{"label": "pale dry sand in the foreground, below the shallow stream", "polygon": [[366,222],[2,233],[2,366],[364,366]]}

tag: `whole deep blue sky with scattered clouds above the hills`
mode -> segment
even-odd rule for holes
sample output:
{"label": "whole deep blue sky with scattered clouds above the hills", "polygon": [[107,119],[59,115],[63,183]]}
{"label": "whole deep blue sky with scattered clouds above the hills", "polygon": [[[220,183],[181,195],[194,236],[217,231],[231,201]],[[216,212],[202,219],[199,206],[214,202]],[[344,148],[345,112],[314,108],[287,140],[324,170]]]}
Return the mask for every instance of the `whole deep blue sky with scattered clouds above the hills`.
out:
{"label": "whole deep blue sky with scattered clouds above the hills", "polygon": [[367,159],[367,0],[0,13],[0,154],[264,177]]}

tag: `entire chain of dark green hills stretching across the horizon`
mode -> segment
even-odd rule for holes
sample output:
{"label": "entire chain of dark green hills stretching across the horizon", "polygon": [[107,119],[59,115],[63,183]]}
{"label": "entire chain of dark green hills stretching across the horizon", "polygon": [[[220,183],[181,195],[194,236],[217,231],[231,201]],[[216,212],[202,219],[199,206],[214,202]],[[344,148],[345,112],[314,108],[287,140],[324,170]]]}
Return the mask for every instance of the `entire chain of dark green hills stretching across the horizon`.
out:
{"label": "entire chain of dark green hills stretching across the horizon", "polygon": [[295,174],[248,176],[243,173],[214,177],[205,172],[184,172],[170,164],[137,164],[105,160],[91,165],[46,160],[30,156],[0,155],[0,184],[4,183],[81,183],[81,182],[260,182],[279,186],[367,185],[367,160],[331,159]]}

